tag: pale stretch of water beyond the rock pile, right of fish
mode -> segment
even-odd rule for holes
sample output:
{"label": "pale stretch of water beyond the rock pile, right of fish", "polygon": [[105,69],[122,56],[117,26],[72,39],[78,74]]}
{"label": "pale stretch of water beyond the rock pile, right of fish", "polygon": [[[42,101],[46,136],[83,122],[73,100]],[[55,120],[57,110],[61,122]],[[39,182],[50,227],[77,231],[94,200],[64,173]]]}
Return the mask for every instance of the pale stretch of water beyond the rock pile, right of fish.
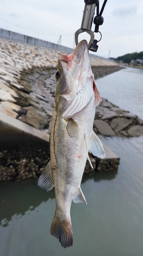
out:
{"label": "pale stretch of water beyond the rock pile, right of fish", "polygon": [[96,83],[103,98],[143,119],[143,69],[125,68]]}

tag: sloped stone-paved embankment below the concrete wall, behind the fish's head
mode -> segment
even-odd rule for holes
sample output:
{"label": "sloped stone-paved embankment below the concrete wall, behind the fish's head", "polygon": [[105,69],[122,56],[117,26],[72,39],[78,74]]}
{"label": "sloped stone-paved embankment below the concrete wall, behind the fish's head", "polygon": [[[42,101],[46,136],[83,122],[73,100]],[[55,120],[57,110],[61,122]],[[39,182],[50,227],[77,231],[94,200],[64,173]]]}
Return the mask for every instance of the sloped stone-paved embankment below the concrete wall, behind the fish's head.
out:
{"label": "sloped stone-paved embankment below the concrete wall, behind the fish's head", "polygon": [[[0,39],[0,113],[49,129],[57,59],[55,50]],[[107,59],[90,60],[96,78],[120,69]]]}

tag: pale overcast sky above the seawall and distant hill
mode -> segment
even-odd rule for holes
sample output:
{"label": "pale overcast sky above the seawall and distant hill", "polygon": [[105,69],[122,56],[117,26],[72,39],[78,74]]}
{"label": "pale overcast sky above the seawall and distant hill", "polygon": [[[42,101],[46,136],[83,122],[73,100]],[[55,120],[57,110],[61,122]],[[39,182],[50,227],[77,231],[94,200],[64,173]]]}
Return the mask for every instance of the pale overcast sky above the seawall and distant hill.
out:
{"label": "pale overcast sky above the seawall and distant hill", "polygon": [[[99,3],[101,9],[103,0]],[[61,45],[73,48],[83,9],[84,0],[0,0],[0,28],[55,44],[62,35]],[[142,0],[108,0],[102,15],[97,55],[108,57],[109,50],[110,57],[143,51]],[[79,40],[88,39],[86,34]]]}

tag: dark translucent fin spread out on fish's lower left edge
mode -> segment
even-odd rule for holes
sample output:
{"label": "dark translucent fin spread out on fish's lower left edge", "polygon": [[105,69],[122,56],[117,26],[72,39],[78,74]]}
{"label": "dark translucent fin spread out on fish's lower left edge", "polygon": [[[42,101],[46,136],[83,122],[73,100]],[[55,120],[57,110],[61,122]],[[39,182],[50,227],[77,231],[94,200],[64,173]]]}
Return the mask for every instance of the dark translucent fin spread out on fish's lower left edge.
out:
{"label": "dark translucent fin spread out on fish's lower left edge", "polygon": [[38,186],[46,191],[51,190],[54,187],[53,178],[51,174],[51,164],[50,161],[46,165],[43,173],[38,180]]}

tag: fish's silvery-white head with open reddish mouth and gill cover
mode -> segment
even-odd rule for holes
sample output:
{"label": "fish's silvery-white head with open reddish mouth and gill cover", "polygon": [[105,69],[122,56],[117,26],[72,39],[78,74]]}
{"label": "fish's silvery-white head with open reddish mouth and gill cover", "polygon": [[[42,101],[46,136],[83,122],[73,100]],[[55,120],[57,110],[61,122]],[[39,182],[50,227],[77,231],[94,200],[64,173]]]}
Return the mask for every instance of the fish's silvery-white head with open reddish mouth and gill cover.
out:
{"label": "fish's silvery-white head with open reddish mouth and gill cover", "polygon": [[[93,95],[96,105],[101,101],[101,97],[90,65],[87,41],[80,41],[72,54],[58,53],[60,57],[55,75],[55,105],[61,117],[69,118],[71,115],[65,113],[72,108],[72,104],[80,105],[80,108],[78,106],[76,108],[77,113],[85,107],[85,104],[88,104]],[[72,112],[72,114],[76,113]]]}

